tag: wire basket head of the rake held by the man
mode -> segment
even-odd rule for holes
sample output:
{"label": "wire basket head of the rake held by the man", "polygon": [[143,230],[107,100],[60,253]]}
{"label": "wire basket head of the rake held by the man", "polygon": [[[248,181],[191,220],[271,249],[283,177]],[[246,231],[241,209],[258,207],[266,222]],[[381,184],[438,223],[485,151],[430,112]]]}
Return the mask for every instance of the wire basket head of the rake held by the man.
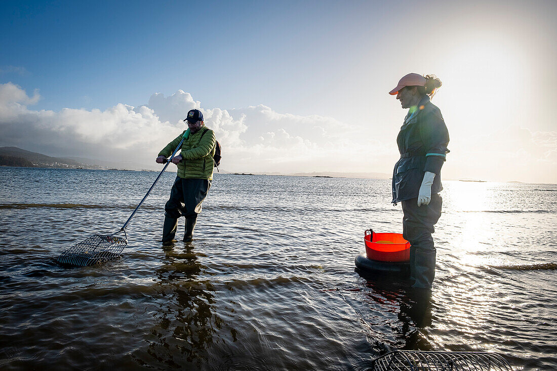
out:
{"label": "wire basket head of the rake held by the man", "polygon": [[[124,231],[125,236],[125,231]],[[56,262],[60,265],[85,267],[105,263],[120,257],[128,245],[126,236],[93,235],[62,252]]]}

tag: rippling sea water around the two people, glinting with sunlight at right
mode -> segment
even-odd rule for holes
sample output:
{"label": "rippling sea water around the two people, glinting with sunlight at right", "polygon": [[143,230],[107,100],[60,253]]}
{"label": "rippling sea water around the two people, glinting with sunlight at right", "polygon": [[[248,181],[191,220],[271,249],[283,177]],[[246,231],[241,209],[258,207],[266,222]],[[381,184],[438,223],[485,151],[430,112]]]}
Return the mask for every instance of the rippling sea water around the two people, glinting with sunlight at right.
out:
{"label": "rippling sea water around the two people, glinting with sunlight at right", "polygon": [[[402,232],[390,180],[216,174],[193,243],[163,246],[165,173],[0,168],[0,368],[361,370],[389,349],[557,368],[557,186],[444,182],[431,296],[362,275],[364,230]],[[179,235],[183,233],[183,219]]]}

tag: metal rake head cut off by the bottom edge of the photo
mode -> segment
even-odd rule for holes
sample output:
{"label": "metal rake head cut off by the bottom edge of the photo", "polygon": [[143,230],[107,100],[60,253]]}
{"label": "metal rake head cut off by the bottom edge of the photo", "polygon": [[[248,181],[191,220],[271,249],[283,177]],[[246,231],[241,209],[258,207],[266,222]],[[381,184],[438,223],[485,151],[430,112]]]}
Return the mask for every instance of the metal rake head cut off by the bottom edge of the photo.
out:
{"label": "metal rake head cut off by the bottom edge of the photo", "polygon": [[501,355],[487,352],[394,350],[372,361],[373,371],[512,371]]}

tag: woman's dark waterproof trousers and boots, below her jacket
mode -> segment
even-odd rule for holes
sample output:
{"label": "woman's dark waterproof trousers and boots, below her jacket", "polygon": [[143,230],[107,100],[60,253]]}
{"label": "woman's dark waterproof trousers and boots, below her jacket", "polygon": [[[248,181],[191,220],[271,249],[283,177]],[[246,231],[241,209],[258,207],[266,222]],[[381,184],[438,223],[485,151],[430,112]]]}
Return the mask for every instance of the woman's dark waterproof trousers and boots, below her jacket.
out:
{"label": "woman's dark waterproof trousers and boots, below her jacket", "polygon": [[410,278],[412,287],[431,289],[435,277],[436,249],[433,245],[433,227],[441,217],[443,199],[433,193],[428,205],[418,206],[418,199],[402,201],[402,236],[410,241]]}

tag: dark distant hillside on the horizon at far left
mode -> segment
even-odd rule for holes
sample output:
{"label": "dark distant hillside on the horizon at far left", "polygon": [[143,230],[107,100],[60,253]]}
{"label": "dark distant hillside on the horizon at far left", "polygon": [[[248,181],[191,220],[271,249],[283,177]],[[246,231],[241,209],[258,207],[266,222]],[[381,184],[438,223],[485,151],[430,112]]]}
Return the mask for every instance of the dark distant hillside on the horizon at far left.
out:
{"label": "dark distant hillside on the horizon at far left", "polygon": [[99,167],[91,167],[71,159],[50,157],[42,153],[30,152],[17,147],[0,147],[0,165],[35,168],[99,169]]}

